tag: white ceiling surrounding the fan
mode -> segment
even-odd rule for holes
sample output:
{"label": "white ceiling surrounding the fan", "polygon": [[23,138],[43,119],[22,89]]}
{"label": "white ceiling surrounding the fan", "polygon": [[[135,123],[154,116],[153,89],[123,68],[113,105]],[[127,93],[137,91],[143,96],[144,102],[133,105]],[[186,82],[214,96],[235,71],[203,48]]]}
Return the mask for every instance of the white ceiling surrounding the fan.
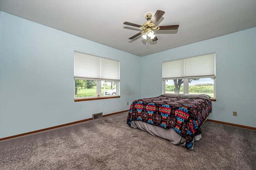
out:
{"label": "white ceiling surrounding the fan", "polygon": [[[0,0],[0,10],[138,56],[256,27],[256,0]],[[156,42],[138,36],[145,14],[163,10]]]}

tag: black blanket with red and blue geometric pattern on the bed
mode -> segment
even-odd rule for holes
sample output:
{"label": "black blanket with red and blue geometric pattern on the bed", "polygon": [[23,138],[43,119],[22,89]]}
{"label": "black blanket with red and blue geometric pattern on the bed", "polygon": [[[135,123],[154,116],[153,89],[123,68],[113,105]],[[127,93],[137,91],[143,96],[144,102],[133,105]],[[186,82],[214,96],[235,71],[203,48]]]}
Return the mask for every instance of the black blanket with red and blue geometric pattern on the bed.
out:
{"label": "black blanket with red and blue geometric pattern on the bed", "polygon": [[193,146],[194,136],[212,112],[210,99],[162,96],[138,99],[130,105],[127,124],[143,121],[162,128],[173,128],[186,138],[186,148]]}

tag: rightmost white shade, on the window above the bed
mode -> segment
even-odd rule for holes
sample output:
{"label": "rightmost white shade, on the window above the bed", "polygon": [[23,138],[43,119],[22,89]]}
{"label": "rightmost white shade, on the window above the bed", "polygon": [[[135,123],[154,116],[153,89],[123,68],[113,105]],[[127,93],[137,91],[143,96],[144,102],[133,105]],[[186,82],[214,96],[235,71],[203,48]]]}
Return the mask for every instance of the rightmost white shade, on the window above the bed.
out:
{"label": "rightmost white shade, on the window above the bed", "polygon": [[201,55],[184,59],[185,76],[200,77],[215,75],[215,54]]}

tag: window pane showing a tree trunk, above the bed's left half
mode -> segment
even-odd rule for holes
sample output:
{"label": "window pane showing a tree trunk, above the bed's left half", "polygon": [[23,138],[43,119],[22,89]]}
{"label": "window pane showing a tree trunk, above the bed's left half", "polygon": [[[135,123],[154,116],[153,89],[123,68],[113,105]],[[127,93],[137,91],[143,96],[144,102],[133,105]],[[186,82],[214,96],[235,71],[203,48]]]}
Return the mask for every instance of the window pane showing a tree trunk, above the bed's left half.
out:
{"label": "window pane showing a tree trunk, above the bed's left half", "polygon": [[165,80],[165,93],[183,93],[183,79]]}

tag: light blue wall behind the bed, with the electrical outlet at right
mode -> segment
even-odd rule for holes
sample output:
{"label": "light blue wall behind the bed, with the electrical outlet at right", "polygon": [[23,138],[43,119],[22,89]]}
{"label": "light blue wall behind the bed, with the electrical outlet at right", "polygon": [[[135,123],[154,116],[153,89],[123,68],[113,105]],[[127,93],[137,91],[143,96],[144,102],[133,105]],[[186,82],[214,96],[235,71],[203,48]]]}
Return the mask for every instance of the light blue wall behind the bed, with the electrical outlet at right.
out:
{"label": "light blue wall behind the bed, with the electrical outlet at right", "polygon": [[256,127],[256,28],[142,57],[142,98],[162,94],[162,61],[214,52],[217,100],[209,119]]}

